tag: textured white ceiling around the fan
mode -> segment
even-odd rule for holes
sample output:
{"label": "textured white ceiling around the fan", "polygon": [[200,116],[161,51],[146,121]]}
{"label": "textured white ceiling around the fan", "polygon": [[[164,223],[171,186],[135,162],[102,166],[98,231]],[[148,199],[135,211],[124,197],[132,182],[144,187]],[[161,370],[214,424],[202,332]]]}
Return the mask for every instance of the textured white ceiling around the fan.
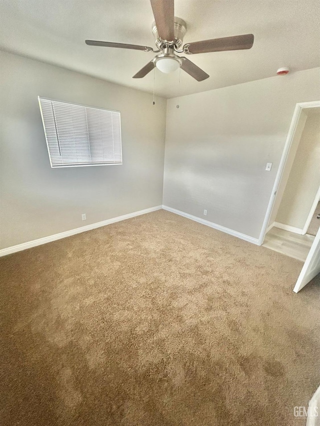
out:
{"label": "textured white ceiling around the fan", "polygon": [[[184,42],[254,34],[250,50],[188,55],[210,78],[155,70],[155,93],[175,97],[320,66],[318,0],[176,0]],[[148,0],[2,0],[0,49],[152,92],[153,71],[132,79],[154,53],[87,46],[85,39],[154,46]],[[155,46],[154,46],[155,48]],[[179,79],[180,77],[180,79]],[[286,77],[279,77],[286,78]],[[180,81],[179,81],[180,80]]]}

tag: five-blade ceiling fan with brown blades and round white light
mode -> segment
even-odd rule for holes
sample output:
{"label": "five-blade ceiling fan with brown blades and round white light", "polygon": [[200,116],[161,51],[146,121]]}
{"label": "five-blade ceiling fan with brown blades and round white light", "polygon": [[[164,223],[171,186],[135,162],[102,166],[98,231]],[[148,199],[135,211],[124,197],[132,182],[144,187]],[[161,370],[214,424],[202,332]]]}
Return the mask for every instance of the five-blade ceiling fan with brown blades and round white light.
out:
{"label": "five-blade ceiling fan with brown blades and round white light", "polygon": [[183,19],[174,16],[174,0],[150,0],[150,2],[154,15],[152,32],[155,37],[157,50],[153,50],[152,47],[148,46],[113,43],[110,41],[85,40],[85,43],[91,46],[119,47],[122,49],[158,53],[133,75],[133,78],[144,77],[154,66],[165,73],[175,71],[180,67],[197,81],[205,80],[209,75],[189,59],[178,56],[175,52],[185,54],[218,52],[223,50],[250,49],[253,45],[253,34],[244,34],[195,41],[182,46],[182,40],[186,32],[186,23]]}

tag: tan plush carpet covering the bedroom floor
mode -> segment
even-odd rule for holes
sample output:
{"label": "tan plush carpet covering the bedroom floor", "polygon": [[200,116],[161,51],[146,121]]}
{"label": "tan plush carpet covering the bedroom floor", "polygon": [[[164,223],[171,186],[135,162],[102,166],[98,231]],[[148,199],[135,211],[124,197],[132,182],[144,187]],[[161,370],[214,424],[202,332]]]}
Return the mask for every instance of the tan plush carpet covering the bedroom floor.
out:
{"label": "tan plush carpet covering the bedroom floor", "polygon": [[0,425],[304,425],[301,266],[163,210],[1,258]]}

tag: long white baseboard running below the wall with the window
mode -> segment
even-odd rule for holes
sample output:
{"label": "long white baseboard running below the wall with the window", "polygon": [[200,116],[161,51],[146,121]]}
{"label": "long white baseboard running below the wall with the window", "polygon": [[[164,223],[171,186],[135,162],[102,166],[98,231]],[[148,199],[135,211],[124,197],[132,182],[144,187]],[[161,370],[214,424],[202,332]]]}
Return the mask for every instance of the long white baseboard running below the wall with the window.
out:
{"label": "long white baseboard running below the wall with the window", "polygon": [[102,222],[92,223],[91,225],[81,226],[80,228],[71,229],[70,231],[60,232],[58,234],[49,235],[48,237],[38,238],[37,240],[28,241],[26,243],[17,244],[16,246],[7,247],[0,250],[0,256],[15,253],[21,250],[26,250],[31,247],[40,246],[41,244],[50,243],[51,241],[61,238],[70,237],[71,235],[81,232],[90,231],[91,229],[99,228],[100,226],[110,225],[111,223],[120,222],[121,220],[130,219],[131,217],[140,216],[141,214],[151,213],[160,210],[162,206],[150,207],[148,209],[139,210],[137,212],[124,214],[123,216],[113,217],[112,219],[103,220]]}

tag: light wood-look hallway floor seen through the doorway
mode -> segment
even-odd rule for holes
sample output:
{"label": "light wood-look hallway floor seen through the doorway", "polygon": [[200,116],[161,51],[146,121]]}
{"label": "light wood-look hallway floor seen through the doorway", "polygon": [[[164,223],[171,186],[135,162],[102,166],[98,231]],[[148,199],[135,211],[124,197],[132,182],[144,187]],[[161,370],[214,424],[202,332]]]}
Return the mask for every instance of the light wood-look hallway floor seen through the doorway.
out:
{"label": "light wood-look hallway floor seen through the doorway", "polygon": [[313,240],[313,235],[299,235],[273,227],[265,235],[262,246],[304,262]]}

